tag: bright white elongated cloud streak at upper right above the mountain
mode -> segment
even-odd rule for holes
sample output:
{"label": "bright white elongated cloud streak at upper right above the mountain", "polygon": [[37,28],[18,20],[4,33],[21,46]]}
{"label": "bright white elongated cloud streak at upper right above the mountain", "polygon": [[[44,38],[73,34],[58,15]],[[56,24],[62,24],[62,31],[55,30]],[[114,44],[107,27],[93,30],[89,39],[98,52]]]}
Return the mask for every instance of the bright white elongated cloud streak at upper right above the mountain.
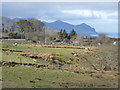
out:
{"label": "bright white elongated cloud streak at upper right above the mountain", "polygon": [[91,18],[100,18],[107,19],[108,17],[117,17],[117,11],[114,12],[106,12],[106,11],[95,11],[95,10],[63,10],[61,11],[64,14],[72,14],[72,15],[80,15],[83,17],[91,17]]}

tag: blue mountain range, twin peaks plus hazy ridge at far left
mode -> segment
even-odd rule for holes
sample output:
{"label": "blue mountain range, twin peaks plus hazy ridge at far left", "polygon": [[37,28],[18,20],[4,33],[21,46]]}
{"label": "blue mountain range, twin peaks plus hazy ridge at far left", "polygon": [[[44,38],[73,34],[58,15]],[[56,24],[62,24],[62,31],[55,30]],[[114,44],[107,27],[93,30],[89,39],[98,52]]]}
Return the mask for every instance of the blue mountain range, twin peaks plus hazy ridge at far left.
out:
{"label": "blue mountain range, twin peaks plus hazy ridge at far left", "polygon": [[[5,26],[7,26],[8,28],[10,28],[13,25],[13,23],[19,21],[21,18],[10,19],[7,17],[2,17],[1,19],[2,19],[2,23]],[[57,20],[57,21],[54,21],[51,23],[48,23],[48,22],[43,22],[43,23],[45,24],[46,27],[51,28],[50,30],[60,31],[61,29],[63,29],[63,30],[65,29],[67,31],[67,33],[70,33],[70,31],[72,29],[74,29],[76,31],[76,33],[81,36],[96,36],[96,35],[98,35],[98,33],[95,31],[94,28],[92,28],[91,26],[89,26],[85,23],[82,23],[79,25],[73,25],[73,24],[63,22],[61,20]]]}

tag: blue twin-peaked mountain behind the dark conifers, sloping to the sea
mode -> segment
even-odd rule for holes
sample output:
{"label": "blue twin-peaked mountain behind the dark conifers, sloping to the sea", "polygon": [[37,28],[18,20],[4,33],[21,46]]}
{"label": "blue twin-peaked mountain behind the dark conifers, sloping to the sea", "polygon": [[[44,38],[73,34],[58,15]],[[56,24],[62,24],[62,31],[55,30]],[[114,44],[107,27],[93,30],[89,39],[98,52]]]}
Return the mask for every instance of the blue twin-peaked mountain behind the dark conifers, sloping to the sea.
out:
{"label": "blue twin-peaked mountain behind the dark conifers, sloping to the sea", "polygon": [[55,22],[52,23],[48,23],[48,22],[44,22],[44,24],[54,30],[61,30],[61,29],[66,29],[66,31],[68,33],[70,33],[70,31],[72,29],[74,29],[77,34],[81,35],[81,36],[96,36],[98,35],[98,33],[95,31],[94,28],[92,28],[91,26],[82,23],[80,25],[72,25],[60,20],[57,20]]}

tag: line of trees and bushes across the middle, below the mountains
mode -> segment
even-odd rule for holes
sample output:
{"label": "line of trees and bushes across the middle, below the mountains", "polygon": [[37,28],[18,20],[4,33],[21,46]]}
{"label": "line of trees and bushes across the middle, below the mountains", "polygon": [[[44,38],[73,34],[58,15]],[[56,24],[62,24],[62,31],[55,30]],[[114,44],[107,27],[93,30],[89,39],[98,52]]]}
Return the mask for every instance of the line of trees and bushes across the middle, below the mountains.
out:
{"label": "line of trees and bushes across the middle, below the mountains", "polygon": [[[13,23],[10,28],[8,26],[9,25],[2,24],[2,33],[7,34],[8,37],[11,39],[27,39],[33,42],[44,42],[45,38],[48,38],[49,40],[47,41],[79,41],[80,43],[84,42],[83,37],[77,35],[74,29],[72,29],[70,33],[68,33],[66,29],[61,29],[59,32],[52,32],[52,34],[55,33],[54,35],[46,34],[44,23],[36,19],[20,19],[18,22]],[[99,37],[97,37],[96,39],[88,39],[87,42],[88,44],[91,44],[93,42],[109,43],[110,39],[106,37],[106,35],[99,35]]]}

